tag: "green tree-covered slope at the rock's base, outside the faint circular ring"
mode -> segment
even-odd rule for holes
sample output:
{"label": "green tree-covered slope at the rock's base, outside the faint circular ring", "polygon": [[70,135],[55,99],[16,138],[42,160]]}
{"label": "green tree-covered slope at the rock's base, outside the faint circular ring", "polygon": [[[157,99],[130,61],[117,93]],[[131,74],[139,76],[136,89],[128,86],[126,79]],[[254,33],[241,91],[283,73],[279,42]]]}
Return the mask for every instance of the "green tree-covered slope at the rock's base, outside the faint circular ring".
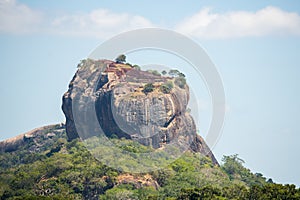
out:
{"label": "green tree-covered slope at the rock's base, outside the faint circular ring", "polygon": [[[188,151],[162,170],[126,173],[103,165],[78,139],[68,142],[61,125],[35,133],[29,138],[22,135],[21,146],[0,153],[1,199],[300,198],[294,185],[275,184],[252,173],[235,155],[224,157],[224,164],[217,166]],[[132,140],[113,140],[127,151],[150,148]]]}

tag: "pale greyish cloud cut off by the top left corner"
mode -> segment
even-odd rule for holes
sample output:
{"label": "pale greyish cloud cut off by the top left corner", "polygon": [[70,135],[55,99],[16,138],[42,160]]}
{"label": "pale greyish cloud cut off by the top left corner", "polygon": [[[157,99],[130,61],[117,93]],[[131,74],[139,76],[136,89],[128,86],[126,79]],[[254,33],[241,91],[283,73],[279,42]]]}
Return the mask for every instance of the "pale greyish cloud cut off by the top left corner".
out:
{"label": "pale greyish cloud cut off by the top left corner", "polygon": [[15,0],[0,0],[0,32],[24,34],[38,31],[43,15]]}

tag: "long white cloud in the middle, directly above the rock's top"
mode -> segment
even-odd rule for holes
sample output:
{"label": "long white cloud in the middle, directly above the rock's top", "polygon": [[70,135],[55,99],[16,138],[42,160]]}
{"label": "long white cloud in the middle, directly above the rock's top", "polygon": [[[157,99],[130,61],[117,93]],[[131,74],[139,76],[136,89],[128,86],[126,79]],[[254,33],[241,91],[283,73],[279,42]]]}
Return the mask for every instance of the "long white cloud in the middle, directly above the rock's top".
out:
{"label": "long white cloud in the middle, directly above the rock's top", "polygon": [[142,16],[97,9],[85,14],[59,16],[52,21],[50,31],[62,35],[105,38],[122,31],[153,26]]}

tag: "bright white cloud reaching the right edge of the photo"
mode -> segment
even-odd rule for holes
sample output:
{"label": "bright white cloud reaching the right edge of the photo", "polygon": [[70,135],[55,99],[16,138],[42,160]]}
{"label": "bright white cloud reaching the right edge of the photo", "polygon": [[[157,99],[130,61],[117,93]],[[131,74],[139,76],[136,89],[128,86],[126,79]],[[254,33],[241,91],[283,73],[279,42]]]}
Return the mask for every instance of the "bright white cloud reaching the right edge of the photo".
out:
{"label": "bright white cloud reaching the right edge of the photo", "polygon": [[203,8],[179,22],[175,30],[198,38],[300,35],[300,16],[272,6],[256,12],[233,11],[224,14]]}

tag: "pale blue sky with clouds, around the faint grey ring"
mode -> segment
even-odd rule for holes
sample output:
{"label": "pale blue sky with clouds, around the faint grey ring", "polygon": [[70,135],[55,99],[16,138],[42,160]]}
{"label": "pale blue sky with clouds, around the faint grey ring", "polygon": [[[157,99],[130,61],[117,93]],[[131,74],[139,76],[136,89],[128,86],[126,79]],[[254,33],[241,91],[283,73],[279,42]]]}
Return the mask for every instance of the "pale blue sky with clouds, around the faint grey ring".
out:
{"label": "pale blue sky with clouds, around the faint grey ring", "polygon": [[[239,154],[253,172],[299,187],[299,1],[0,0],[0,140],[63,122],[78,62],[147,27],[188,36],[216,65],[226,95],[217,159]],[[203,96],[200,132],[211,112]]]}

